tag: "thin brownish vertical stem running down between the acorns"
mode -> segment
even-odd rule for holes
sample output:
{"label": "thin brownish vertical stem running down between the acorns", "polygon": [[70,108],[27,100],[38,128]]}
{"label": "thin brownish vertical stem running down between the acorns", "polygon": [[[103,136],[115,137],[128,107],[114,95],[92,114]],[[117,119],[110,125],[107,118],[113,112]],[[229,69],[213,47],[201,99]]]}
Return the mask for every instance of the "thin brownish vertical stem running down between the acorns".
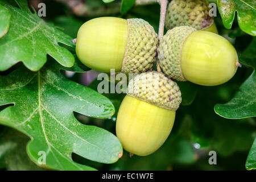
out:
{"label": "thin brownish vertical stem running down between the acorns", "polygon": [[[160,40],[162,39],[164,34],[164,22],[166,19],[166,9],[167,9],[168,0],[159,0],[159,4],[160,4],[160,21],[159,21],[158,38]],[[156,61],[156,68],[158,72],[161,72],[159,60]]]}

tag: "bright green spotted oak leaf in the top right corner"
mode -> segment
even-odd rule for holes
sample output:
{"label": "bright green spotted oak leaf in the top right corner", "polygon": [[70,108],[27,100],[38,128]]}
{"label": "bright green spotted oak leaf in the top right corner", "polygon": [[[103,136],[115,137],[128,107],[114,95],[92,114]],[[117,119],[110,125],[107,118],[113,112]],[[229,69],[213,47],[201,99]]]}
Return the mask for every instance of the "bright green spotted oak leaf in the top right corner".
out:
{"label": "bright green spotted oak leaf in the top right corner", "polygon": [[247,34],[256,36],[256,1],[255,0],[218,0],[218,11],[225,28],[232,27],[237,11],[240,28]]}

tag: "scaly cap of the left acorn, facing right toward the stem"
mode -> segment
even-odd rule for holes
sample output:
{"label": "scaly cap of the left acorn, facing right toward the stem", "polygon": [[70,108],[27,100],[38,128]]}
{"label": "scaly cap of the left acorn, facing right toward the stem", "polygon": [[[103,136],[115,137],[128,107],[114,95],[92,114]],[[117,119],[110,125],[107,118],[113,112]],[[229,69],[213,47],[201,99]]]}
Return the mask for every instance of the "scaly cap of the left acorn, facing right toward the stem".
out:
{"label": "scaly cap of the left acorn, facing right toward the stem", "polygon": [[156,59],[158,36],[154,28],[143,19],[127,19],[129,35],[123,73],[142,73],[153,67]]}

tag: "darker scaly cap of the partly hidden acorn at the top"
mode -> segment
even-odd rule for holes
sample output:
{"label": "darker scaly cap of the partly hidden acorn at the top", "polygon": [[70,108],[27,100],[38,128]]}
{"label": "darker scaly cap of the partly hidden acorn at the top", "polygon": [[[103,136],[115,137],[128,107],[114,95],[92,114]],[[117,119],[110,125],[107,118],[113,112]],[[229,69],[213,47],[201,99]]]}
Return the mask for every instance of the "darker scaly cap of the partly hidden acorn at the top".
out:
{"label": "darker scaly cap of the partly hidden acorn at the top", "polygon": [[203,30],[212,26],[214,19],[209,16],[206,0],[172,0],[166,13],[166,28],[191,26]]}

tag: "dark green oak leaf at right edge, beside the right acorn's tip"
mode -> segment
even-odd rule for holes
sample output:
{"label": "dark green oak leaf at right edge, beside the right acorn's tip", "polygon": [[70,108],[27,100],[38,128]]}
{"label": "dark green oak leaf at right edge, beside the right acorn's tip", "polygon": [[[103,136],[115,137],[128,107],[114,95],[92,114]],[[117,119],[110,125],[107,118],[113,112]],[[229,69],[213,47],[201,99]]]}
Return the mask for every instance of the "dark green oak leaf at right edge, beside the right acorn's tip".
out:
{"label": "dark green oak leaf at right edge, beside the right acorn's tip", "polygon": [[[242,52],[240,62],[255,69],[256,38]],[[253,52],[254,51],[254,52]],[[217,104],[214,111],[224,118],[239,119],[256,116],[256,75],[255,71],[240,86],[234,98],[226,104]]]}

